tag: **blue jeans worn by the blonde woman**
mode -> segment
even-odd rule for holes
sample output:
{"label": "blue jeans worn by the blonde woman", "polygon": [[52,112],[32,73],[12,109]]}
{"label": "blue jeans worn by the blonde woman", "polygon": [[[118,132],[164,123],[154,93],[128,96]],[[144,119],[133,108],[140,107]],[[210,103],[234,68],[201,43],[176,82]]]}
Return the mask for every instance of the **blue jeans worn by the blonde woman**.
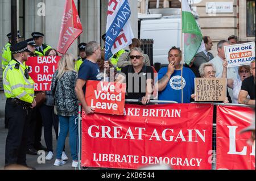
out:
{"label": "blue jeans worn by the blonde woman", "polygon": [[63,147],[69,131],[69,146],[71,148],[71,157],[77,161],[77,143],[78,143],[78,119],[77,116],[64,117],[59,115],[60,133],[57,140],[56,158],[61,159]]}

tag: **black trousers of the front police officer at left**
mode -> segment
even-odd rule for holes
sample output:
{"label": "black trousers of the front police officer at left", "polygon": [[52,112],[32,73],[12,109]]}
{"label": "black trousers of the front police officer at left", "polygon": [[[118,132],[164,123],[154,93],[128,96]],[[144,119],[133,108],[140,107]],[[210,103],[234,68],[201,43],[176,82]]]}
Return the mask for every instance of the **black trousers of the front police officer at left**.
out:
{"label": "black trousers of the front police officer at left", "polygon": [[19,164],[26,166],[28,117],[31,110],[13,103],[11,99],[7,99],[5,109],[9,120],[9,131],[5,148],[5,165]]}

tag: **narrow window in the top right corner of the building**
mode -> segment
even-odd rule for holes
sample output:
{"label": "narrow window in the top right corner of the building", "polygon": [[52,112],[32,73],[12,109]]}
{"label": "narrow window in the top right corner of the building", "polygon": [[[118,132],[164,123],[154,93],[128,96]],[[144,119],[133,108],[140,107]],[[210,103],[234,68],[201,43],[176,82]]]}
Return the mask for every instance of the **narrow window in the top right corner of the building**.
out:
{"label": "narrow window in the top right corner of the building", "polygon": [[247,0],[246,3],[246,35],[255,36],[255,2]]}

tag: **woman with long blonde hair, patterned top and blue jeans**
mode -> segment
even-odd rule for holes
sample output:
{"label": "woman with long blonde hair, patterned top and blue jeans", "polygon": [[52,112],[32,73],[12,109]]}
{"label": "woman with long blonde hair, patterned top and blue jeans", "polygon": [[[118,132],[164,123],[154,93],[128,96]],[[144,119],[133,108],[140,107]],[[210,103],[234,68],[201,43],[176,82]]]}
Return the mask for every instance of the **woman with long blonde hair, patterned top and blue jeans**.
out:
{"label": "woman with long blonde hair, patterned top and blue jeans", "polygon": [[64,54],[59,61],[58,69],[53,74],[51,90],[53,90],[56,112],[59,116],[60,133],[57,140],[56,160],[54,166],[64,165],[61,159],[65,139],[69,132],[69,146],[73,159],[72,167],[78,166],[77,158],[77,114],[78,102],[75,92],[77,72],[75,70],[75,58],[72,54]]}

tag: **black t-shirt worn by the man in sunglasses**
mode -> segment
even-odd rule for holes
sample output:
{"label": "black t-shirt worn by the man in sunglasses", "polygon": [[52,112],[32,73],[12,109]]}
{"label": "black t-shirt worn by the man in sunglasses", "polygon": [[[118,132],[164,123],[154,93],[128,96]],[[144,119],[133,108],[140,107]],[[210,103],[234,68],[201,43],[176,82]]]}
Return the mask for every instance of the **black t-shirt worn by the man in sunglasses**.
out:
{"label": "black t-shirt worn by the man in sunglasses", "polygon": [[151,66],[143,66],[137,74],[132,65],[127,65],[122,69],[122,73],[126,76],[126,99],[139,99],[146,95],[146,80],[154,79],[154,71]]}

